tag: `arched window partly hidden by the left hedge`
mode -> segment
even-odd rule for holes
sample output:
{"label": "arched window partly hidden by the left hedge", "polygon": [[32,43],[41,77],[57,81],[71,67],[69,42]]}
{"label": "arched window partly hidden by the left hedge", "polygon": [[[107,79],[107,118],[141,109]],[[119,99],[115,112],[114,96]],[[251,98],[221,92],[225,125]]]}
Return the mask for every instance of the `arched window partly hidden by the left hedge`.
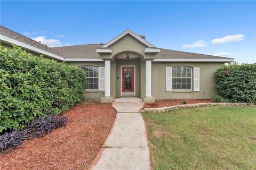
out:
{"label": "arched window partly hidden by the left hedge", "polygon": [[99,67],[84,65],[80,68],[86,74],[86,89],[99,89]]}

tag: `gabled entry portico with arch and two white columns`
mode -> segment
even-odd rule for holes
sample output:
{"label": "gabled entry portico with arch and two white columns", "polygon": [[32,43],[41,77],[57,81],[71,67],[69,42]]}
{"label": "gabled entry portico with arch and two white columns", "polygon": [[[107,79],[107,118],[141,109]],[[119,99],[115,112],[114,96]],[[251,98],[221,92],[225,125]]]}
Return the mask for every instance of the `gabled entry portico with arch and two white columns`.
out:
{"label": "gabled entry portico with arch and two white columns", "polygon": [[123,54],[133,54],[140,57],[146,63],[146,95],[143,96],[143,101],[155,103],[155,98],[151,96],[151,61],[156,58],[159,52],[160,49],[130,29],[125,30],[102,47],[97,48],[97,53],[105,61],[105,97],[101,98],[101,102],[113,100],[113,97],[110,96],[110,63]]}

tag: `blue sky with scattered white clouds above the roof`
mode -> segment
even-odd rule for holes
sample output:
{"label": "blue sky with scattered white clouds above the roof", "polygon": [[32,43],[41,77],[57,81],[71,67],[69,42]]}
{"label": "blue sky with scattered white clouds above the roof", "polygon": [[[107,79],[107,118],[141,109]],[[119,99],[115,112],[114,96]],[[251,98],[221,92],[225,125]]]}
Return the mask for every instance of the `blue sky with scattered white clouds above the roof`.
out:
{"label": "blue sky with scattered white clouds above the roof", "polygon": [[107,43],[130,28],[159,48],[256,62],[255,1],[1,1],[1,25],[49,46]]}

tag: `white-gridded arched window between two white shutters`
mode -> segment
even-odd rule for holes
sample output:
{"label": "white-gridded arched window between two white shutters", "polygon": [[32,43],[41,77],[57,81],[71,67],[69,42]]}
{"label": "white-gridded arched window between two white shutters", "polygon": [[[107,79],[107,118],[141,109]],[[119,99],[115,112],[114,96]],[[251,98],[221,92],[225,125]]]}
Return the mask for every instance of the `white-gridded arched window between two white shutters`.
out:
{"label": "white-gridded arched window between two white shutters", "polygon": [[192,67],[176,66],[172,67],[172,89],[191,90],[192,89]]}

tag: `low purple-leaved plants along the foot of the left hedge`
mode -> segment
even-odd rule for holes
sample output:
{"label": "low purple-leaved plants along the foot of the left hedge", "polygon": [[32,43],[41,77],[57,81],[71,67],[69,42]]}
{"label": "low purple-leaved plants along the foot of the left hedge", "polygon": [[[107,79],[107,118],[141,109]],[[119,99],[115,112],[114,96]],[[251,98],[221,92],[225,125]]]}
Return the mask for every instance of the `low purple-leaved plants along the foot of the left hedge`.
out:
{"label": "low purple-leaved plants along the foot of the left hedge", "polygon": [[43,137],[52,130],[67,124],[66,116],[45,115],[26,125],[24,130],[16,129],[0,136],[0,152],[14,149],[28,138]]}

